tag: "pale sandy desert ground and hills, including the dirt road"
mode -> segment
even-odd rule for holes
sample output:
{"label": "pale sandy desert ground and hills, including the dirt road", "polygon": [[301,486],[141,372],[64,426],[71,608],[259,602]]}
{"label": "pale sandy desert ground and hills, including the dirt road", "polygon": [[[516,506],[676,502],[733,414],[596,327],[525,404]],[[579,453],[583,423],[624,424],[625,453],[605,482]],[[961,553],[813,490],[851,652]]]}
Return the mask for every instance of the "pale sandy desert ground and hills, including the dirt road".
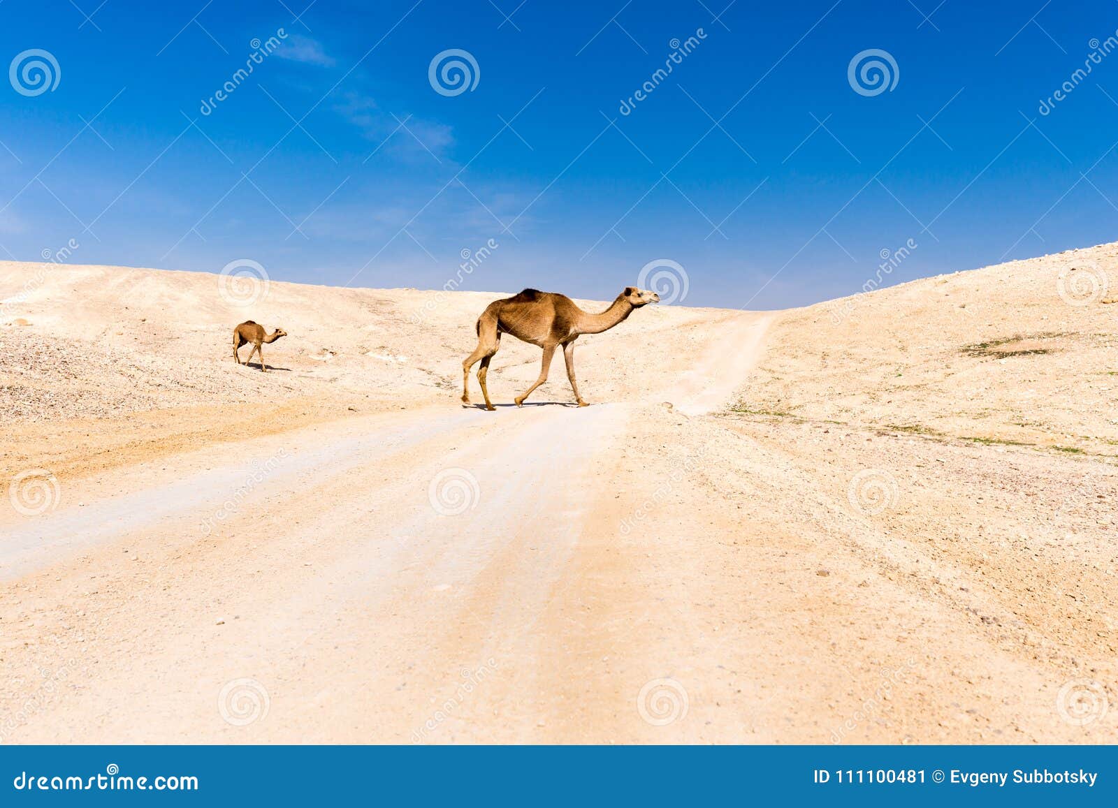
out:
{"label": "pale sandy desert ground and hills, including the dirt road", "polygon": [[558,362],[494,413],[493,295],[0,264],[3,478],[57,479],[0,507],[0,736],[1112,742],[1111,315],[1057,284],[1115,253],[648,307],[579,341],[595,406]]}

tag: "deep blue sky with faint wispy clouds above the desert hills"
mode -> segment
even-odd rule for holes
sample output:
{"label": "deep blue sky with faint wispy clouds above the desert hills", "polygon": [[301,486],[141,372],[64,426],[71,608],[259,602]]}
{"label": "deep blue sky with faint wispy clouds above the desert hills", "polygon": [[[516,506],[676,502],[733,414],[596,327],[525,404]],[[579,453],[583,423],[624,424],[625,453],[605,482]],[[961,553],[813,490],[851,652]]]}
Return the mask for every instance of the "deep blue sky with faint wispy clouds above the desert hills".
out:
{"label": "deep blue sky with faint wispy clouds above the desert hills", "polygon": [[[1112,0],[309,2],[0,3],[6,64],[58,66],[2,85],[0,256],[440,288],[493,239],[461,288],[671,259],[688,304],[775,308],[909,239],[890,284],[1116,238]],[[429,80],[448,49],[472,89]]]}

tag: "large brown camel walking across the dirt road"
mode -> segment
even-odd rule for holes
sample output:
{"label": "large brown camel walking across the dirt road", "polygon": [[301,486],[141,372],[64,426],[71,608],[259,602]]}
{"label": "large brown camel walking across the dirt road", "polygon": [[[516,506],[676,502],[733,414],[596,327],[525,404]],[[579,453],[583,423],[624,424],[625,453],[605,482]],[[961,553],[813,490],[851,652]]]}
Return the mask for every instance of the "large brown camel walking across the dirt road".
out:
{"label": "large brown camel walking across the dirt road", "polygon": [[575,391],[575,400],[579,407],[586,407],[575,381],[575,340],[580,334],[600,334],[625,320],[634,308],[659,301],[660,295],[655,292],[635,286],[626,286],[609,308],[600,314],[584,312],[570,297],[555,292],[524,289],[513,297],[494,301],[477,319],[477,348],[462,363],[462,400],[470,403],[470,369],[481,360],[477,381],[481,382],[482,396],[485,397],[485,409],[496,409],[485,389],[485,374],[493,354],[501,346],[501,334],[510,333],[518,340],[543,349],[540,378],[523,396],[514,399],[518,407],[524,403],[532,390],[548,380],[548,368],[551,367],[551,358],[559,345],[562,345],[562,355],[567,360],[567,378],[570,380],[570,389]]}

